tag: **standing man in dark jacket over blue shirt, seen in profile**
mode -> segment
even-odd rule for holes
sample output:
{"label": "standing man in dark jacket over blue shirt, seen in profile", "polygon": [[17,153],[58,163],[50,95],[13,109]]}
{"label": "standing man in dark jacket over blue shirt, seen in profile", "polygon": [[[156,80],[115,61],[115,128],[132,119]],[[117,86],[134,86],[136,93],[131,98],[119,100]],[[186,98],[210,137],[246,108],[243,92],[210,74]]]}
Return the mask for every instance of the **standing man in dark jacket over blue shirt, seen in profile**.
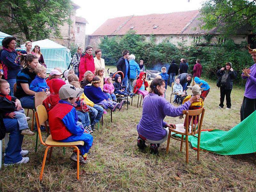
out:
{"label": "standing man in dark jacket over blue shirt, seen in profile", "polygon": [[128,50],[124,50],[123,57],[121,57],[116,64],[117,71],[122,71],[124,73],[124,79],[122,81],[122,84],[123,86],[125,86],[125,91],[127,91],[128,80],[130,78],[130,65],[128,61],[129,55],[130,52]]}

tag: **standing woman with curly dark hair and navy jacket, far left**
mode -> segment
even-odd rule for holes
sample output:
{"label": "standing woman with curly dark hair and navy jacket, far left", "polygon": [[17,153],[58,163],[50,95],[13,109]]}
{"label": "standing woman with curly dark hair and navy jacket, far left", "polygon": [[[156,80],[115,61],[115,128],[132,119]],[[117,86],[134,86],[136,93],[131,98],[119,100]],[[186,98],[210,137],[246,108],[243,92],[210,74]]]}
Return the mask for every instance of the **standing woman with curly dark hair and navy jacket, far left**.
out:
{"label": "standing woman with curly dark hair and navy jacket, far left", "polygon": [[15,51],[16,37],[5,37],[2,41],[3,51],[1,61],[3,64],[4,78],[10,84],[13,96],[13,85],[16,83],[16,76],[20,72],[20,62],[16,60],[18,53]]}

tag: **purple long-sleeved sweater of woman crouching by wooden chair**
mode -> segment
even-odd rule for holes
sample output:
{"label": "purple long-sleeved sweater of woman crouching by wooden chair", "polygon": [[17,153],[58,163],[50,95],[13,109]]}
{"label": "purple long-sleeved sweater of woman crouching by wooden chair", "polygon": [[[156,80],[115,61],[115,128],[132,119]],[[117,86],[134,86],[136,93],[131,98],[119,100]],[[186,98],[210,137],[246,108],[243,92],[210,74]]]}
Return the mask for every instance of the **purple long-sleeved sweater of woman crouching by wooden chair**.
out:
{"label": "purple long-sleeved sweater of woman crouching by wooden chair", "polygon": [[149,94],[143,100],[142,116],[137,125],[138,133],[150,140],[161,140],[166,136],[165,116],[177,117],[182,115],[183,110],[188,110],[191,103],[185,102],[179,107],[174,107],[164,97]]}

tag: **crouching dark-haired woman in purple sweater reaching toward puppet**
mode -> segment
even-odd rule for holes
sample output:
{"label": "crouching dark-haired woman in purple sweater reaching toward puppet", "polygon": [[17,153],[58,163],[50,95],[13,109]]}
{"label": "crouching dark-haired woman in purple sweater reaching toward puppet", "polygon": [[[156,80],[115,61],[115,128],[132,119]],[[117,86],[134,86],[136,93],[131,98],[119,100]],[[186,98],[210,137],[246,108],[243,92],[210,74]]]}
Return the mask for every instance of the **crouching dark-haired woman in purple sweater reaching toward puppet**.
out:
{"label": "crouching dark-haired woman in purple sweater reaching toward puppet", "polygon": [[187,102],[174,107],[166,99],[161,97],[165,92],[165,83],[163,79],[156,78],[150,84],[149,95],[147,95],[142,104],[142,116],[137,131],[139,134],[137,146],[140,149],[146,147],[145,141],[150,143],[150,150],[153,154],[158,154],[160,143],[167,140],[169,128],[175,124],[164,122],[165,116],[177,117],[182,115],[183,110],[188,110],[191,103],[199,101],[200,96],[194,95]]}

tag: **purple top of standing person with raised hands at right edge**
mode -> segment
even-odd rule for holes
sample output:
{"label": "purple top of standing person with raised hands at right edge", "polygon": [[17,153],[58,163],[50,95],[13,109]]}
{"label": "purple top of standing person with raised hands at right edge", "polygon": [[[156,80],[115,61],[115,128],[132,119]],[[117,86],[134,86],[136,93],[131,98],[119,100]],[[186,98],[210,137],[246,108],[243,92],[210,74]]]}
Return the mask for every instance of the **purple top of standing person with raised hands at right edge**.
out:
{"label": "purple top of standing person with raised hands at right edge", "polygon": [[249,69],[251,69],[250,77],[242,76],[243,79],[247,79],[244,96],[249,99],[256,99],[256,63]]}

